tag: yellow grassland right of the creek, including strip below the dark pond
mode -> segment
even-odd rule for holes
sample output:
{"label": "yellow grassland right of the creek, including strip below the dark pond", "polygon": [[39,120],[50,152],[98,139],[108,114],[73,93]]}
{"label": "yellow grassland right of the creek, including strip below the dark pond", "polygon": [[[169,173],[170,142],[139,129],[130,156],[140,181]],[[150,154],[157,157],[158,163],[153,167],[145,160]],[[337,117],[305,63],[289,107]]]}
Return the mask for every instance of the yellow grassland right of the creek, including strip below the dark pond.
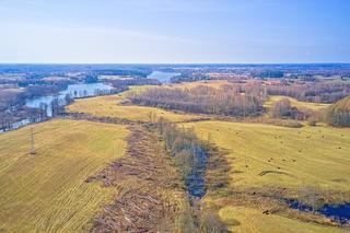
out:
{"label": "yellow grassland right of the creek, including strip below the dark pond", "polygon": [[[326,201],[347,201],[350,197],[349,129],[293,129],[225,121],[184,126],[192,127],[203,140],[210,138],[225,151],[231,168],[229,189],[222,196],[209,194],[205,201],[219,208],[219,215],[234,232],[346,232],[300,221],[294,218],[296,213],[283,210],[265,195],[298,198],[312,188]],[[262,213],[273,208],[281,209],[283,214]]]}

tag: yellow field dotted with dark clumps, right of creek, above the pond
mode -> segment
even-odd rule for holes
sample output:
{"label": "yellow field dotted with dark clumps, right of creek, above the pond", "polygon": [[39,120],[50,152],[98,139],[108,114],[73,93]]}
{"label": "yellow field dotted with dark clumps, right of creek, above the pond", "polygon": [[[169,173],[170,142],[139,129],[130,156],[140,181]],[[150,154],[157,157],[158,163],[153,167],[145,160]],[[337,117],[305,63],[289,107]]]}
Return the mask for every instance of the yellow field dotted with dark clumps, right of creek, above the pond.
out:
{"label": "yellow field dotted with dark clumps, right of creek, above the pond", "polygon": [[[200,121],[186,124],[226,150],[235,188],[299,188],[350,191],[350,130],[299,129],[262,124]],[[266,173],[266,174],[264,174]]]}

